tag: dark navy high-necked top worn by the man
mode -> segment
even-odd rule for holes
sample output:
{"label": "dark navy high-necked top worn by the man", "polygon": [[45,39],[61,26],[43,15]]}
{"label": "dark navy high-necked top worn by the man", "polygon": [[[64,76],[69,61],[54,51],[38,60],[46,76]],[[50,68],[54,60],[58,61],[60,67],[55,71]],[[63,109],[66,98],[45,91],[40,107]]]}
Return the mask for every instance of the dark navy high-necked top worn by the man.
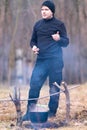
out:
{"label": "dark navy high-necked top worn by the man", "polygon": [[[59,31],[60,40],[55,41],[52,38],[52,34]],[[55,17],[46,20],[41,19],[36,22],[30,41],[30,46],[36,45],[40,50],[37,58],[58,58],[61,62],[62,59],[62,47],[66,47],[69,44],[66,28],[63,22]]]}

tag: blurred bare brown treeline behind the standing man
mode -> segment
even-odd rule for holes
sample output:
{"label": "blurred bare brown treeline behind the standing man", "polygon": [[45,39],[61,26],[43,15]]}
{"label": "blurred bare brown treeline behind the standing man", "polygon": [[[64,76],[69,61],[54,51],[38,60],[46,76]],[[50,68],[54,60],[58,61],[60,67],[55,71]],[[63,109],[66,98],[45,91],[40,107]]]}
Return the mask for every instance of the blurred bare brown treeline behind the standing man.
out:
{"label": "blurred bare brown treeline behind the standing man", "polygon": [[[36,57],[31,52],[29,41],[33,25],[41,17],[43,1],[0,0],[0,82],[15,79],[16,49],[23,50],[24,61],[29,61],[29,64],[25,62],[28,68],[34,65]],[[64,21],[70,39],[70,45],[63,49],[64,80],[67,83],[86,82],[87,0],[53,1],[55,15]]]}

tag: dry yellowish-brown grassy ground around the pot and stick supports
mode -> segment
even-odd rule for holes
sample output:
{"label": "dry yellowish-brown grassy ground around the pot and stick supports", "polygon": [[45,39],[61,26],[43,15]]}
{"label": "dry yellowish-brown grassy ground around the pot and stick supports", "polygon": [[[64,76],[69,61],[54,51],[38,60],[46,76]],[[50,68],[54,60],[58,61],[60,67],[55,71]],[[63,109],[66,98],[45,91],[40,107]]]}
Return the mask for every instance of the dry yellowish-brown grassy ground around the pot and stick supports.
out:
{"label": "dry yellowish-brown grassy ground around the pot and stick supports", "polygon": [[[77,85],[68,85],[68,88]],[[48,95],[48,86],[43,86],[40,97]],[[0,85],[0,99],[10,99],[13,96],[13,86]],[[64,93],[60,94],[57,115],[42,125],[41,130],[87,130],[87,83],[78,85],[69,91],[70,94],[70,122],[64,125],[66,119],[66,102]],[[21,86],[21,99],[27,99],[28,86]],[[47,105],[48,98],[39,100],[39,104]],[[27,101],[21,101],[22,115],[26,111]],[[0,100],[0,130],[33,130],[30,121],[23,122],[22,127],[16,126],[16,110],[12,101]],[[39,129],[38,129],[39,130]]]}

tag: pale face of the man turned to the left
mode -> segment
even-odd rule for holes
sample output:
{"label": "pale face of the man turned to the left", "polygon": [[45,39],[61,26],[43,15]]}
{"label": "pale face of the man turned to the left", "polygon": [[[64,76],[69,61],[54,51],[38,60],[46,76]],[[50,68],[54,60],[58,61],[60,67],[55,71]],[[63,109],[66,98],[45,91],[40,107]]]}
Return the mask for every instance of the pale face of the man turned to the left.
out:
{"label": "pale face of the man turned to the left", "polygon": [[53,17],[52,11],[47,6],[42,6],[41,15],[43,19],[50,19]]}

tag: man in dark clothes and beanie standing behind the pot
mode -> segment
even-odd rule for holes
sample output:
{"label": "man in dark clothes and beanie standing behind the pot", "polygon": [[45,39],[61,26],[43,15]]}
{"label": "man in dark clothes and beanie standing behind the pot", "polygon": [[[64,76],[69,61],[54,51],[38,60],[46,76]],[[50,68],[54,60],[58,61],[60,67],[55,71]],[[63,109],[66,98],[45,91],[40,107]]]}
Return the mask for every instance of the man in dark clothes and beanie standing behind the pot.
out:
{"label": "man in dark clothes and beanie standing behind the pot", "polygon": [[[42,19],[36,22],[33,28],[30,46],[37,59],[31,76],[29,99],[39,98],[40,90],[47,77],[49,77],[50,94],[60,91],[53,83],[61,84],[64,66],[62,47],[67,47],[69,39],[64,23],[56,19],[54,13],[54,3],[48,0],[43,2]],[[23,121],[29,120],[29,107],[36,103],[37,100],[28,101]],[[59,95],[50,96],[49,117],[56,115],[58,103]]]}

